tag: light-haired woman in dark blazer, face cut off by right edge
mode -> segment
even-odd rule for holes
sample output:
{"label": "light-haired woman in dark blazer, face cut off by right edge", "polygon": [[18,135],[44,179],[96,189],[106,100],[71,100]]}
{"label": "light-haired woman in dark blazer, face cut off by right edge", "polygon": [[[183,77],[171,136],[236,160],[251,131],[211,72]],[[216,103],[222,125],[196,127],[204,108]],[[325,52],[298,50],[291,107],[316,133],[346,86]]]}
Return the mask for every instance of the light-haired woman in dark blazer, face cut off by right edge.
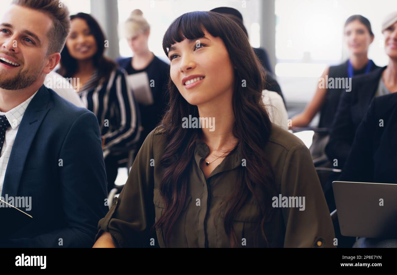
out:
{"label": "light-haired woman in dark blazer, face cut off by right edge", "polygon": [[343,92],[341,96],[330,131],[330,141],[325,149],[330,161],[337,160],[339,169],[343,168],[347,160],[358,125],[366,114],[371,100],[374,97],[396,92],[396,19],[397,13],[392,13],[386,17],[382,25],[385,53],[389,57],[387,66],[354,77],[351,91]]}

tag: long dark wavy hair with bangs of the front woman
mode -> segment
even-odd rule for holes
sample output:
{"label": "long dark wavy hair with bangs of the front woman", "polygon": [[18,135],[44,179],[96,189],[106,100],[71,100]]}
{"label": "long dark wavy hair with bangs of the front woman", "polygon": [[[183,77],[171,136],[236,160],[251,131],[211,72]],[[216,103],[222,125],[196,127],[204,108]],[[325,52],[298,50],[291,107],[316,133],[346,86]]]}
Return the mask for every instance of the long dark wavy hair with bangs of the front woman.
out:
{"label": "long dark wavy hair with bangs of the front woman", "polygon": [[[262,233],[265,240],[264,223],[271,216],[271,198],[275,192],[274,176],[266,159],[264,148],[271,132],[269,115],[262,101],[262,87],[266,81],[260,61],[256,57],[247,35],[232,19],[220,13],[211,11],[193,11],[175,19],[168,27],[163,38],[163,49],[168,56],[168,48],[185,38],[198,39],[204,36],[204,31],[214,37],[222,38],[234,71],[233,113],[235,122],[233,134],[238,139],[247,166],[241,167],[240,178],[229,199],[229,205],[224,220],[224,227],[230,239],[231,246],[237,243],[233,229],[233,218],[239,209],[254,198],[260,202],[261,217],[257,232]],[[246,87],[242,86],[246,80]],[[179,93],[172,82],[168,83],[170,101],[168,111],[161,124],[165,128],[167,145],[160,160],[164,174],[160,183],[160,194],[166,207],[162,216],[153,228],[161,228],[165,233],[165,242],[177,218],[181,214],[187,198],[187,166],[191,162],[195,149],[195,140],[200,137],[200,129],[182,128],[182,118],[192,115],[198,117],[198,108],[189,104]],[[235,147],[235,148],[236,148]],[[256,243],[256,242],[255,242]]]}

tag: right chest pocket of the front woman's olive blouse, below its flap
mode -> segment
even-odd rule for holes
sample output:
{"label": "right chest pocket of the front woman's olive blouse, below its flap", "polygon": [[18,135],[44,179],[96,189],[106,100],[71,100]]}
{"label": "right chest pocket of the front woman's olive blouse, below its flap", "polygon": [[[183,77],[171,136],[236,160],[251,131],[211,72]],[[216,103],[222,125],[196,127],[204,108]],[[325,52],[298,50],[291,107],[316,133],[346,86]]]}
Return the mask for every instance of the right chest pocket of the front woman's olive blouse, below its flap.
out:
{"label": "right chest pocket of the front woman's olive blouse, below its flap", "polygon": [[[222,207],[220,223],[218,224],[218,247],[230,246],[229,238],[225,233],[224,218],[227,206]],[[233,229],[237,237],[235,247],[258,247],[264,246],[263,235],[259,229],[256,230],[262,219],[260,206],[258,204],[244,204],[233,218]]]}

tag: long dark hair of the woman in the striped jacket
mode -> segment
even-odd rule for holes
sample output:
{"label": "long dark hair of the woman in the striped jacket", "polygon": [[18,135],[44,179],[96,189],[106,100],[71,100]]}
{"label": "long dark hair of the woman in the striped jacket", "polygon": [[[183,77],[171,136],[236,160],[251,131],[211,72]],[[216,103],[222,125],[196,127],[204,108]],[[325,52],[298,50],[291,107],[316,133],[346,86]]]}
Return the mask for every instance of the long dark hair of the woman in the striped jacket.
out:
{"label": "long dark hair of the woman in the striped jacket", "polygon": [[[75,15],[70,16],[70,20],[76,18],[83,19],[87,23],[88,27],[90,28],[91,34],[93,34],[95,38],[96,47],[98,50],[92,58],[94,61],[94,66],[98,69],[98,79],[108,79],[110,73],[112,73],[112,71],[117,67],[117,64],[104,55],[106,49],[106,38],[102,29],[100,28],[98,22],[94,19],[94,17],[87,13],[79,12]],[[72,77],[77,71],[77,60],[71,57],[69,50],[66,47],[66,44],[61,52],[60,65],[61,67],[57,71],[57,73],[64,77]]]}

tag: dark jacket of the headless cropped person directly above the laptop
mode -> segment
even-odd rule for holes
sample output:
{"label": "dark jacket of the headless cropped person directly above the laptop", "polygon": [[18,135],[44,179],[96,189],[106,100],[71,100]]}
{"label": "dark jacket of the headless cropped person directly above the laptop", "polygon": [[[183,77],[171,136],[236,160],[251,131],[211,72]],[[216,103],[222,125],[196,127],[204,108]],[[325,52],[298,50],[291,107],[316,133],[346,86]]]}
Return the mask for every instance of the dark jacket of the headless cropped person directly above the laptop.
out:
{"label": "dark jacket of the headless cropped person directly above the laptop", "polygon": [[397,183],[396,152],[397,92],[372,100],[339,180]]}

